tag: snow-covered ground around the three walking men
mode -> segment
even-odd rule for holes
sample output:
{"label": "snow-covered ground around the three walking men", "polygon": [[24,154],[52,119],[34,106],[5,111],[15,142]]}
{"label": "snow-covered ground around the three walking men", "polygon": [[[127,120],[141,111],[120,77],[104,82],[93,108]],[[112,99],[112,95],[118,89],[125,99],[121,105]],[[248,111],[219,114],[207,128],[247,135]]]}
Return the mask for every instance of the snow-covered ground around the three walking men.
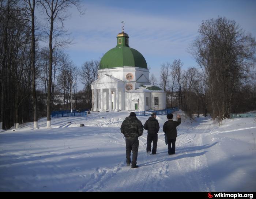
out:
{"label": "snow-covered ground around the three walking men", "polygon": [[[128,111],[53,118],[52,129],[42,118],[40,129],[27,123],[2,131],[0,191],[256,191],[256,118],[219,125],[210,117],[191,120],[179,113],[176,154],[167,154],[167,118],[158,115],[157,155],[146,154],[144,130],[137,169],[126,166],[120,133]],[[144,124],[148,116],[138,118]]]}

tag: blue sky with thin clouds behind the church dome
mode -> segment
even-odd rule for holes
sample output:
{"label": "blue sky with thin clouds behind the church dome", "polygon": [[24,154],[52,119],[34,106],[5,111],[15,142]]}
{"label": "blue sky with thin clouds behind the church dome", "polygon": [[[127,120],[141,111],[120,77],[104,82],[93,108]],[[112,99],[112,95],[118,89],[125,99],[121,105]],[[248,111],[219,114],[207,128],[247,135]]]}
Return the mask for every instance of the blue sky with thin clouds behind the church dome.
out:
{"label": "blue sky with thin clouds behind the church dome", "polygon": [[72,8],[65,21],[74,38],[65,50],[78,67],[116,47],[123,20],[129,46],[142,53],[157,79],[164,62],[181,59],[183,69],[197,67],[187,48],[199,35],[203,20],[225,16],[256,37],[256,0],[87,0],[82,4],[85,15]]}

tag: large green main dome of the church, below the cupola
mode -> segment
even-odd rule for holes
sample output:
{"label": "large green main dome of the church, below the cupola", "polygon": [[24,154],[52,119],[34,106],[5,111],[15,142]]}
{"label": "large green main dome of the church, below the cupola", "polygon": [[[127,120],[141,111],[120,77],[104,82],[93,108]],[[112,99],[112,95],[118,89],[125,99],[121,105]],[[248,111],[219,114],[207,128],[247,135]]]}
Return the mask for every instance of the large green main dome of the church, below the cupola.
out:
{"label": "large green main dome of the church, below the cupola", "polygon": [[123,66],[147,68],[145,58],[138,50],[127,46],[115,47],[101,58],[99,69],[117,68]]}

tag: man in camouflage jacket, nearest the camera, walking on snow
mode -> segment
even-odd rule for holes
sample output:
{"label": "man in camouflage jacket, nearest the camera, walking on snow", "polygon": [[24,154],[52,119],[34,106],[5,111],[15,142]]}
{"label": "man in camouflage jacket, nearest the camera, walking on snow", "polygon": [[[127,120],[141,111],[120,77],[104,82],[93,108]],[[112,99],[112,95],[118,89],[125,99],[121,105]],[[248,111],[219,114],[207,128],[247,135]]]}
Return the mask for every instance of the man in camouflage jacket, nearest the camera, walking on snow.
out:
{"label": "man in camouflage jacket, nearest the camera, walking on snow", "polygon": [[139,166],[136,165],[139,149],[138,137],[143,134],[143,125],[140,120],[136,118],[135,112],[131,112],[129,117],[125,118],[120,130],[125,137],[127,166],[131,164],[132,151],[132,168],[138,168]]}

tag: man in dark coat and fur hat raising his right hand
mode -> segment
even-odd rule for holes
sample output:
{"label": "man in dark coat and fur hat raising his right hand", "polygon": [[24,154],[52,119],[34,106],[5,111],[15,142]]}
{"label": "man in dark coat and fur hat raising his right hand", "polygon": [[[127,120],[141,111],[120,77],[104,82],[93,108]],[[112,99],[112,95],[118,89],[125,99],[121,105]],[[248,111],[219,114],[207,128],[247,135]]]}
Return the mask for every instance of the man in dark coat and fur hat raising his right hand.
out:
{"label": "man in dark coat and fur hat raising his right hand", "polygon": [[163,125],[163,132],[166,133],[166,139],[168,143],[168,154],[175,154],[175,142],[177,138],[177,129],[176,127],[180,125],[181,118],[180,115],[177,116],[178,121],[173,121],[173,114],[167,115],[168,121]]}

